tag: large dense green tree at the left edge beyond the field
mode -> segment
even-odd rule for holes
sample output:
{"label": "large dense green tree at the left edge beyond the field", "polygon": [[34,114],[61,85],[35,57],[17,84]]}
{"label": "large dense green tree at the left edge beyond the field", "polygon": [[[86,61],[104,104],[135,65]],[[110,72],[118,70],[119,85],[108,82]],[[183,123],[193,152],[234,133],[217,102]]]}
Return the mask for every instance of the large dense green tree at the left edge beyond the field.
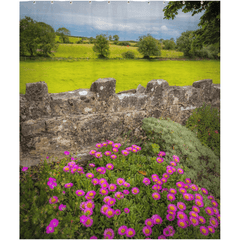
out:
{"label": "large dense green tree at the left edge beyond the field", "polygon": [[34,56],[40,48],[45,56],[56,50],[54,29],[43,22],[37,22],[30,17],[20,20],[20,56]]}

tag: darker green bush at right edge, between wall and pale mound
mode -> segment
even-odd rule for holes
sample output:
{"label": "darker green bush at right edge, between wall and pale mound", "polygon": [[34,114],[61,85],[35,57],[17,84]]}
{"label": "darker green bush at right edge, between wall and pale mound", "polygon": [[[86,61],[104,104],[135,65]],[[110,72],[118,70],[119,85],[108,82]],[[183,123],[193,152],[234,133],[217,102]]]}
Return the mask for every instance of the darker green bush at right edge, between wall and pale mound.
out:
{"label": "darker green bush at right edge, between wall and pale mound", "polygon": [[194,109],[185,126],[220,158],[220,113],[217,108],[204,103],[202,107]]}

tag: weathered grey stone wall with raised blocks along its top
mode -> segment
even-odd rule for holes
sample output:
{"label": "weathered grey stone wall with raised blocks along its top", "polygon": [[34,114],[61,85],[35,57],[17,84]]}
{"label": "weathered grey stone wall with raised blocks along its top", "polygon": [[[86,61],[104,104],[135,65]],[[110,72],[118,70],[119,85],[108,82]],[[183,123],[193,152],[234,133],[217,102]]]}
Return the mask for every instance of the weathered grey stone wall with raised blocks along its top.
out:
{"label": "weathered grey stone wall with raised blocks along its top", "polygon": [[203,102],[220,110],[220,85],[211,79],[183,87],[157,79],[117,94],[115,87],[115,79],[100,78],[90,89],[48,93],[45,82],[27,83],[26,94],[20,94],[20,165],[37,165],[46,156],[61,159],[64,151],[86,162],[96,143],[129,130],[141,133],[144,118],[184,124]]}

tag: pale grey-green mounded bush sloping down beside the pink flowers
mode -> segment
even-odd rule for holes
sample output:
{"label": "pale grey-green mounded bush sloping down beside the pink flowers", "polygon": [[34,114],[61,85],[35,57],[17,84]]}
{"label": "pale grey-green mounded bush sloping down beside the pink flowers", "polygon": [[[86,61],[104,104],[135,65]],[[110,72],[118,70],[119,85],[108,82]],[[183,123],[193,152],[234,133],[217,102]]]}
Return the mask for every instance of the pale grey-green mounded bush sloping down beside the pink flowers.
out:
{"label": "pale grey-green mounded bush sloping down beside the pink flowers", "polygon": [[[182,169],[193,183],[206,188],[209,194],[220,198],[220,161],[214,152],[202,145],[192,132],[179,123],[156,118],[143,119],[142,129],[146,133],[148,143],[142,145],[142,154],[156,156],[154,148],[166,152],[165,161],[173,161],[177,155]],[[150,146],[151,144],[157,144]],[[152,151],[149,152],[149,149]],[[181,165],[180,165],[181,167]]]}

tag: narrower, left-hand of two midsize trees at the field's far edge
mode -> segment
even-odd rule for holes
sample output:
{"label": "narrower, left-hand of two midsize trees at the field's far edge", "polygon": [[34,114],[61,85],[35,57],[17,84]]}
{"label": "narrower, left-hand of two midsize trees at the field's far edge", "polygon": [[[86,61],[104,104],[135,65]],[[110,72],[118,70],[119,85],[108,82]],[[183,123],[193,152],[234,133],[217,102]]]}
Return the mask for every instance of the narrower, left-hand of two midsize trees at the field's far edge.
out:
{"label": "narrower, left-hand of two midsize trees at the field's far edge", "polygon": [[109,41],[107,40],[106,34],[96,36],[93,51],[99,54],[99,58],[108,57],[110,55]]}

